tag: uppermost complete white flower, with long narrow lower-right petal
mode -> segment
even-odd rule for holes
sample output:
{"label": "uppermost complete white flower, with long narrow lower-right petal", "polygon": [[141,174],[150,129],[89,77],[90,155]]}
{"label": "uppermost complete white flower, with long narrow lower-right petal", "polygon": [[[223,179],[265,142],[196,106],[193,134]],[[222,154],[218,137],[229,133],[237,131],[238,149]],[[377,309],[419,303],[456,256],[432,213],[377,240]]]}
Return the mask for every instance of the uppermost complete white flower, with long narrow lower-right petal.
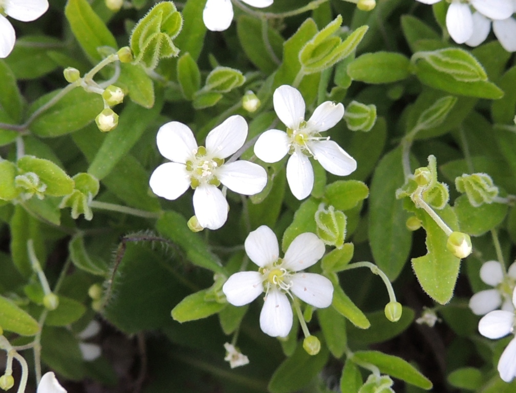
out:
{"label": "uppermost complete white flower, with long narrow lower-right petal", "polygon": [[308,156],[313,156],[328,172],[349,175],[357,169],[357,161],[329,138],[319,133],[337,124],[344,116],[344,105],[326,101],[319,105],[312,117],[304,121],[305,105],[301,93],[283,85],[273,94],[276,114],[287,126],[287,132],[269,129],[254,145],[254,154],[265,162],[277,162],[287,153],[287,181],[294,196],[301,200],[312,192],[314,171]]}

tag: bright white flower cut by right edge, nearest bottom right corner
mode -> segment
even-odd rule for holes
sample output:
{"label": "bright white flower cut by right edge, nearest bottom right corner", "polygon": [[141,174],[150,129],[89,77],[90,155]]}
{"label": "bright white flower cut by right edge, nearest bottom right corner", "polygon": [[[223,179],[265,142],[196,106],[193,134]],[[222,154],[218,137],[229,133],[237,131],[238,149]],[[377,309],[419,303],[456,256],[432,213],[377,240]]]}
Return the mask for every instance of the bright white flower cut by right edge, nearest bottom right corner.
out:
{"label": "bright white flower cut by right edge, nearest bottom right corner", "polygon": [[[512,293],[512,303],[516,307],[516,290]],[[514,312],[495,310],[485,315],[478,322],[478,331],[482,336],[496,339],[514,333]],[[516,376],[516,337],[512,338],[498,361],[498,373],[505,382]]]}

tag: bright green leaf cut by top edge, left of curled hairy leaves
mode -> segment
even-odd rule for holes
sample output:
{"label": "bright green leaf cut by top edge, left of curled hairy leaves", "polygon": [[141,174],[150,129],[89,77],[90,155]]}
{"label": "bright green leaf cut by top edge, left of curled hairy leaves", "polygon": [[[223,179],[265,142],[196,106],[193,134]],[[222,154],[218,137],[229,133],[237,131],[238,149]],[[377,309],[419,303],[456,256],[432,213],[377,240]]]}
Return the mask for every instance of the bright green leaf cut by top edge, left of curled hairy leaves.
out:
{"label": "bright green leaf cut by top edge, left of curled hairy leaves", "polygon": [[102,60],[98,47],[118,47],[115,37],[86,0],[68,0],[65,15],[73,35],[92,63]]}

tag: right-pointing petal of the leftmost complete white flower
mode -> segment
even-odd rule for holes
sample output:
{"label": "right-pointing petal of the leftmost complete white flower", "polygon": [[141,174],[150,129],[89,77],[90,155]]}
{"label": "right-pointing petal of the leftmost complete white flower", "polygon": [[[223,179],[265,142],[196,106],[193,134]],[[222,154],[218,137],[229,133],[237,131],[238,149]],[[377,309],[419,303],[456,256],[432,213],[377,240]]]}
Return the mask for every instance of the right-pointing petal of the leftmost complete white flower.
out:
{"label": "right-pointing petal of the leftmost complete white flower", "polygon": [[239,160],[229,162],[217,171],[217,178],[230,190],[243,195],[261,192],[267,184],[267,172],[253,162]]}

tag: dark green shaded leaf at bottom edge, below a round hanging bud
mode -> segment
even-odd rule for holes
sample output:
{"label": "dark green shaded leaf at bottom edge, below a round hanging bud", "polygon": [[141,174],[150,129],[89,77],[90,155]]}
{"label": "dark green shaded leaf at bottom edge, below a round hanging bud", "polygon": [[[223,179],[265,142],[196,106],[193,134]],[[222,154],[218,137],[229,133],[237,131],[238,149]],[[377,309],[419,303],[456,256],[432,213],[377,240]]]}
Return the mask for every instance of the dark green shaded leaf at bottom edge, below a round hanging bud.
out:
{"label": "dark green shaded leaf at bottom edge, below a round hanging bud", "polygon": [[328,360],[329,352],[321,345],[317,355],[311,356],[299,341],[296,350],[272,374],[267,389],[271,393],[289,393],[307,386],[322,370]]}

